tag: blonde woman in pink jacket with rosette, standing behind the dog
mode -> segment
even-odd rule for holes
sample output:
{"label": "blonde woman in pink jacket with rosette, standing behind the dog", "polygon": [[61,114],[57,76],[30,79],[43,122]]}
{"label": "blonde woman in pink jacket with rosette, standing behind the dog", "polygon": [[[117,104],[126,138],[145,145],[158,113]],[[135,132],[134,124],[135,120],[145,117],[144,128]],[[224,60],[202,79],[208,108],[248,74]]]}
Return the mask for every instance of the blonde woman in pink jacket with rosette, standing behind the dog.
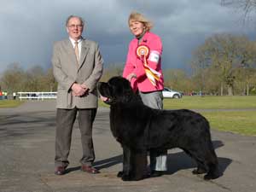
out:
{"label": "blonde woman in pink jacket with rosette, standing behind the dog", "polygon": [[[123,77],[131,82],[133,90],[138,91],[145,105],[162,109],[161,39],[149,32],[152,23],[137,12],[131,13],[128,25],[135,38],[129,44]],[[166,150],[150,150],[151,177],[159,177],[166,171],[166,154]]]}

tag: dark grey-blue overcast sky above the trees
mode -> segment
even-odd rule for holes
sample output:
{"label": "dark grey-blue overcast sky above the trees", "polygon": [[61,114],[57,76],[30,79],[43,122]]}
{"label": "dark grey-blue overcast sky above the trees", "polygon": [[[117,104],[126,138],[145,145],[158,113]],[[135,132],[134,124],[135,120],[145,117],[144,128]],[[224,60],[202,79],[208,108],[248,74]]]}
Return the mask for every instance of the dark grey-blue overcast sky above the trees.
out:
{"label": "dark grey-blue overcast sky above the trees", "polygon": [[127,26],[137,10],[154,22],[152,32],[162,38],[163,68],[188,69],[191,51],[213,34],[247,35],[255,40],[255,26],[242,24],[236,9],[221,0],[1,0],[0,73],[13,62],[25,69],[50,67],[52,45],[67,38],[68,15],[84,18],[84,38],[100,44],[106,67],[125,63],[133,38]]}

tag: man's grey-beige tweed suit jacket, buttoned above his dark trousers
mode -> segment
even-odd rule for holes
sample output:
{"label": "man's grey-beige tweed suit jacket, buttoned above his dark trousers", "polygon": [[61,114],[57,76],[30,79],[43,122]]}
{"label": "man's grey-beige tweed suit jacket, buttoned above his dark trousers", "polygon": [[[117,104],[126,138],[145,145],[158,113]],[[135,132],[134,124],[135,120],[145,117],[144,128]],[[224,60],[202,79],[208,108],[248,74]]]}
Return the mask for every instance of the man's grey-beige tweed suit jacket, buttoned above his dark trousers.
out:
{"label": "man's grey-beige tweed suit jacket, buttoned above his dark trousers", "polygon": [[[82,40],[80,61],[76,59],[73,44],[68,39],[56,42],[52,65],[58,82],[56,108],[97,108],[96,84],[102,77],[103,60],[96,42]],[[73,83],[86,84],[87,96],[72,96]]]}

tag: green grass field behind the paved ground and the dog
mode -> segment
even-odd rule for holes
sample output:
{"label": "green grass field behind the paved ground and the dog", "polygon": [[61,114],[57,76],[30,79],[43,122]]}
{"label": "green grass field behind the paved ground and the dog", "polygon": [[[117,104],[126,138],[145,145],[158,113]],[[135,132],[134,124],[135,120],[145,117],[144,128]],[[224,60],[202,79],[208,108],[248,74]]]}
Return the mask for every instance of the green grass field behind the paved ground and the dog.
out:
{"label": "green grass field behind the paved ground and the dog", "polygon": [[[14,108],[22,102],[0,100],[0,108]],[[102,101],[99,106],[108,108]],[[164,108],[196,110],[209,120],[212,129],[256,136],[256,96],[183,96],[164,99]]]}

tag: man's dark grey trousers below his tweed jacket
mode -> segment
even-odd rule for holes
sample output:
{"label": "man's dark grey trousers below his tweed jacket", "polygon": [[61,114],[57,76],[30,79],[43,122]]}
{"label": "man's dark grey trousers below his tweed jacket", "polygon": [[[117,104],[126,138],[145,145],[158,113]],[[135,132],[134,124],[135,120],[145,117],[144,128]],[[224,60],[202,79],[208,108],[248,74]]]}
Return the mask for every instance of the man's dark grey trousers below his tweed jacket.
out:
{"label": "man's dark grey trousers below his tweed jacket", "polygon": [[92,141],[92,124],[96,116],[96,108],[57,108],[55,131],[55,166],[68,166],[67,160],[72,140],[73,123],[78,114],[79,130],[83,156],[80,163],[91,166],[95,160]]}

